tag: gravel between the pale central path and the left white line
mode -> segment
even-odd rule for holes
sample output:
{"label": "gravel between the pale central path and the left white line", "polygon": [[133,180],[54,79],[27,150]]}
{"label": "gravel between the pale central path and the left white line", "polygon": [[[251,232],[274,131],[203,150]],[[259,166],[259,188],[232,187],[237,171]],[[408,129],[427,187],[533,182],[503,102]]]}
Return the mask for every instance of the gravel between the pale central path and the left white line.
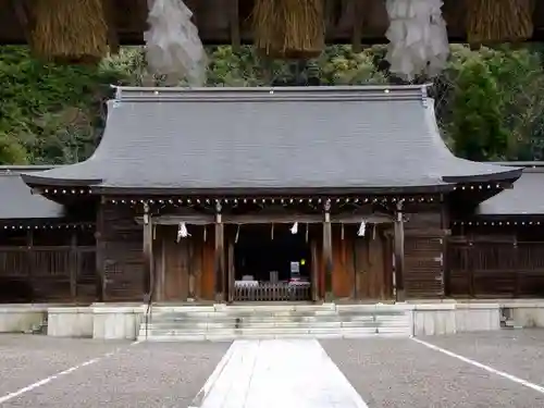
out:
{"label": "gravel between the pale central path and the left white line", "polygon": [[1,407],[186,408],[228,346],[228,343],[127,346],[95,364],[10,399]]}

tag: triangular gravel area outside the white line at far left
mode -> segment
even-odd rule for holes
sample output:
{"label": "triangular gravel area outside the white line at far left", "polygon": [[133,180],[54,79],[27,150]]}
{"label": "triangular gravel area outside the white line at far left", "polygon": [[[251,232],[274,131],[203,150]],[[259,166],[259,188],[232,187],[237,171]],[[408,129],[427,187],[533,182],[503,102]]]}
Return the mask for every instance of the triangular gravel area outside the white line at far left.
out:
{"label": "triangular gravel area outside the white line at far left", "polygon": [[0,398],[128,344],[2,334],[0,335]]}

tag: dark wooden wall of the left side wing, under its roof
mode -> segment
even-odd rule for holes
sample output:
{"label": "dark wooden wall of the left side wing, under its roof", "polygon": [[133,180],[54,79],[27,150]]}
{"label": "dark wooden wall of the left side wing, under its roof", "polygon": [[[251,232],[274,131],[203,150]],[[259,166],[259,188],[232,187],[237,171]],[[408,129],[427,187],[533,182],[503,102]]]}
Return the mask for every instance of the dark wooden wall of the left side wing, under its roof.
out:
{"label": "dark wooden wall of the left side wing, under its roof", "polygon": [[0,302],[95,301],[95,249],[92,230],[0,230]]}

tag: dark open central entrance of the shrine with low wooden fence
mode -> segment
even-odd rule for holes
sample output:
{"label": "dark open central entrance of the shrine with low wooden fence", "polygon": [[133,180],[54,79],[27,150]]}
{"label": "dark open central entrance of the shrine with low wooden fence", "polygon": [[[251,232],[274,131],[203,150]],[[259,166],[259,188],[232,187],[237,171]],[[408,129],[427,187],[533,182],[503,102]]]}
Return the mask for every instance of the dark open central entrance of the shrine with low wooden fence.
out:
{"label": "dark open central entrance of the shrine with low wooden fence", "polygon": [[298,225],[244,225],[230,252],[234,301],[311,300],[316,262],[308,234]]}

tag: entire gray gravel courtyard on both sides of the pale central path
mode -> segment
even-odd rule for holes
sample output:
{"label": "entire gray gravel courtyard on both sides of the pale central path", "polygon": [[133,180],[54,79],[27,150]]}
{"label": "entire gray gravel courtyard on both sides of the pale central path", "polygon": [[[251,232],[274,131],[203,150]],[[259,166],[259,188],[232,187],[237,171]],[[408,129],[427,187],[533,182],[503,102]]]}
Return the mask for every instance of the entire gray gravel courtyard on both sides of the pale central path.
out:
{"label": "entire gray gravel courtyard on both sides of the pale central path", "polygon": [[[424,341],[544,385],[544,331]],[[322,341],[369,408],[544,407],[544,395],[412,339]],[[144,343],[0,336],[0,398],[90,359],[4,404],[45,408],[186,408],[228,343]],[[111,354],[112,351],[115,351]],[[104,357],[104,355],[108,355]],[[280,407],[279,407],[280,408]]]}

